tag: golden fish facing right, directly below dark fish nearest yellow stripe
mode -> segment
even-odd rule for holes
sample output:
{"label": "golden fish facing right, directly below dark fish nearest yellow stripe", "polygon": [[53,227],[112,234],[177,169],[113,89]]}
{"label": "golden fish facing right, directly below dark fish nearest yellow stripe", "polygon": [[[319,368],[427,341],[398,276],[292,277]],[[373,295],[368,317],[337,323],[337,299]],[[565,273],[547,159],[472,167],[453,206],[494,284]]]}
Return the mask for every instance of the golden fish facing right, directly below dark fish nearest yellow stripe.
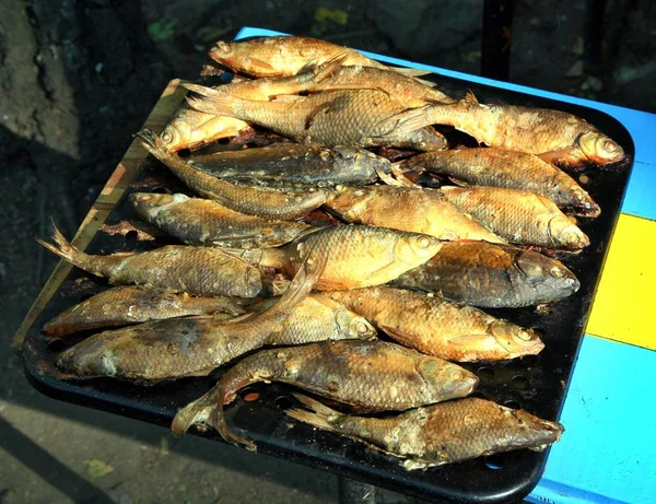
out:
{"label": "golden fish facing right, directly below dark fish nearest yellow stripe", "polygon": [[440,297],[387,286],[327,295],[399,343],[447,361],[515,359],[536,355],[544,348],[531,329]]}

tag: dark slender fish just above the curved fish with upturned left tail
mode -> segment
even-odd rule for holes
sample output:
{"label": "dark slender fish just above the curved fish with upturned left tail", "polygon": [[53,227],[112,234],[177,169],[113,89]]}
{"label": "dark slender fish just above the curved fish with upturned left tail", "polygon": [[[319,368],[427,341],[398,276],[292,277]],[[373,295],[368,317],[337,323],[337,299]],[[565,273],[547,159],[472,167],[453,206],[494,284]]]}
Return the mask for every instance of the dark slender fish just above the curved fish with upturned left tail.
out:
{"label": "dark slender fish just above the curved fish with upturned left tail", "polygon": [[270,187],[364,185],[376,181],[378,172],[390,172],[388,160],[363,149],[297,143],[197,155],[188,163],[219,178]]}

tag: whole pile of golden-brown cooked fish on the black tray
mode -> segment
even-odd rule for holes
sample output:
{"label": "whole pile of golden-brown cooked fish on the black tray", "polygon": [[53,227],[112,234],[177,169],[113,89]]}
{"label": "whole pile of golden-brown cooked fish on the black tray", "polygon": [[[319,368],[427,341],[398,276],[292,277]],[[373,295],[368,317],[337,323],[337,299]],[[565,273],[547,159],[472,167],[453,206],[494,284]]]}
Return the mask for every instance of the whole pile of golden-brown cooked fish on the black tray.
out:
{"label": "whole pile of golden-brown cooked fish on the black tray", "polygon": [[[210,57],[232,82],[186,84],[163,132],[138,133],[196,196],[130,202],[181,244],[93,256],[58,231],[39,241],[121,285],[44,327],[50,338],[105,329],[61,352],[62,376],[149,385],[221,367],[172,429],[212,426],[250,449],[224,409],[256,382],[348,405],[295,395],[286,412],[408,469],[558,441],[557,422],[467,398],[479,378],[457,363],[544,348],[480,308],[578,290],[554,257],[589,245],[573,215],[600,208],[561,168],[622,161],[622,148],[571,114],[455,99],[421,72],[321,40],[221,42]],[[484,146],[454,148],[442,126]],[[245,148],[258,138],[267,144]],[[218,152],[180,152],[222,139]]]}

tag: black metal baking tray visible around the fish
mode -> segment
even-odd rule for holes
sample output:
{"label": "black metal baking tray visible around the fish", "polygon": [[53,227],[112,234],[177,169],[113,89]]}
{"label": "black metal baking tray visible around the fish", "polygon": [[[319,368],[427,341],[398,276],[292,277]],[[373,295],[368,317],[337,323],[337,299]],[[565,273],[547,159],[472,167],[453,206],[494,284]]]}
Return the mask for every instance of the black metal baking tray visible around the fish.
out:
{"label": "black metal baking tray visible around the fish", "polygon": [[[590,237],[590,246],[578,255],[560,256],[581,280],[581,290],[571,297],[552,303],[548,313],[537,313],[535,308],[489,310],[495,316],[539,329],[546,342],[542,353],[512,362],[466,364],[467,368],[476,372],[481,378],[476,395],[511,407],[522,407],[546,419],[558,419],[608,244],[620,213],[634,153],[633,142],[620,122],[591,108],[452,78],[432,75],[427,79],[434,80],[456,97],[471,90],[483,103],[505,102],[576,114],[618,141],[628,154],[629,161],[621,165],[590,167],[585,172],[589,181],[584,187],[601,206],[602,212],[596,220],[579,220],[581,227]],[[446,134],[455,142],[471,144],[471,140],[465,136],[453,131],[446,131]],[[152,190],[189,194],[163,166],[149,159],[137,180],[113,210],[107,224],[134,220],[127,196],[133,191]],[[86,251],[109,254],[127,249],[145,250],[175,243],[173,238],[167,237],[160,237],[154,242],[139,241],[136,235],[136,232],[121,236],[101,231]],[[54,354],[61,351],[65,343],[58,340],[46,341],[39,336],[40,327],[63,309],[105,288],[106,284],[102,280],[82,271],[74,270],[69,274],[34,324],[25,341],[23,354],[26,375],[38,390],[54,398],[168,426],[177,409],[212,387],[222,370],[210,377],[186,378],[153,387],[139,387],[104,378],[61,382],[52,375]],[[398,459],[391,456],[289,419],[282,409],[293,402],[291,390],[288,386],[276,384],[248,387],[226,409],[229,423],[237,432],[244,432],[247,437],[253,438],[260,453],[311,465],[421,499],[477,503],[519,500],[539,481],[548,455],[548,452],[518,450],[425,471],[406,471],[399,466]],[[245,401],[244,396],[253,391],[258,392],[258,399]],[[199,434],[220,441],[220,437],[211,432]],[[565,431],[564,436],[567,435]]]}

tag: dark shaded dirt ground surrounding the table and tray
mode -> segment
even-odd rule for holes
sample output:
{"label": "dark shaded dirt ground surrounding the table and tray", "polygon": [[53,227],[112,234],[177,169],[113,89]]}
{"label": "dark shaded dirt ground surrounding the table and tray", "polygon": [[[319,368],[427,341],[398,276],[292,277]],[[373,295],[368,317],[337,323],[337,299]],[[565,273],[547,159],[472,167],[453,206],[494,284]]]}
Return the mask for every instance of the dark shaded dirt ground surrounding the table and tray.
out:
{"label": "dark shaded dirt ground surrounding the table and tray", "polygon": [[[48,399],[11,338],[168,80],[244,25],[478,73],[479,0],[0,0],[0,502],[319,503],[333,476]],[[656,112],[649,0],[517,0],[511,80]],[[411,502],[384,492],[378,502]]]}

